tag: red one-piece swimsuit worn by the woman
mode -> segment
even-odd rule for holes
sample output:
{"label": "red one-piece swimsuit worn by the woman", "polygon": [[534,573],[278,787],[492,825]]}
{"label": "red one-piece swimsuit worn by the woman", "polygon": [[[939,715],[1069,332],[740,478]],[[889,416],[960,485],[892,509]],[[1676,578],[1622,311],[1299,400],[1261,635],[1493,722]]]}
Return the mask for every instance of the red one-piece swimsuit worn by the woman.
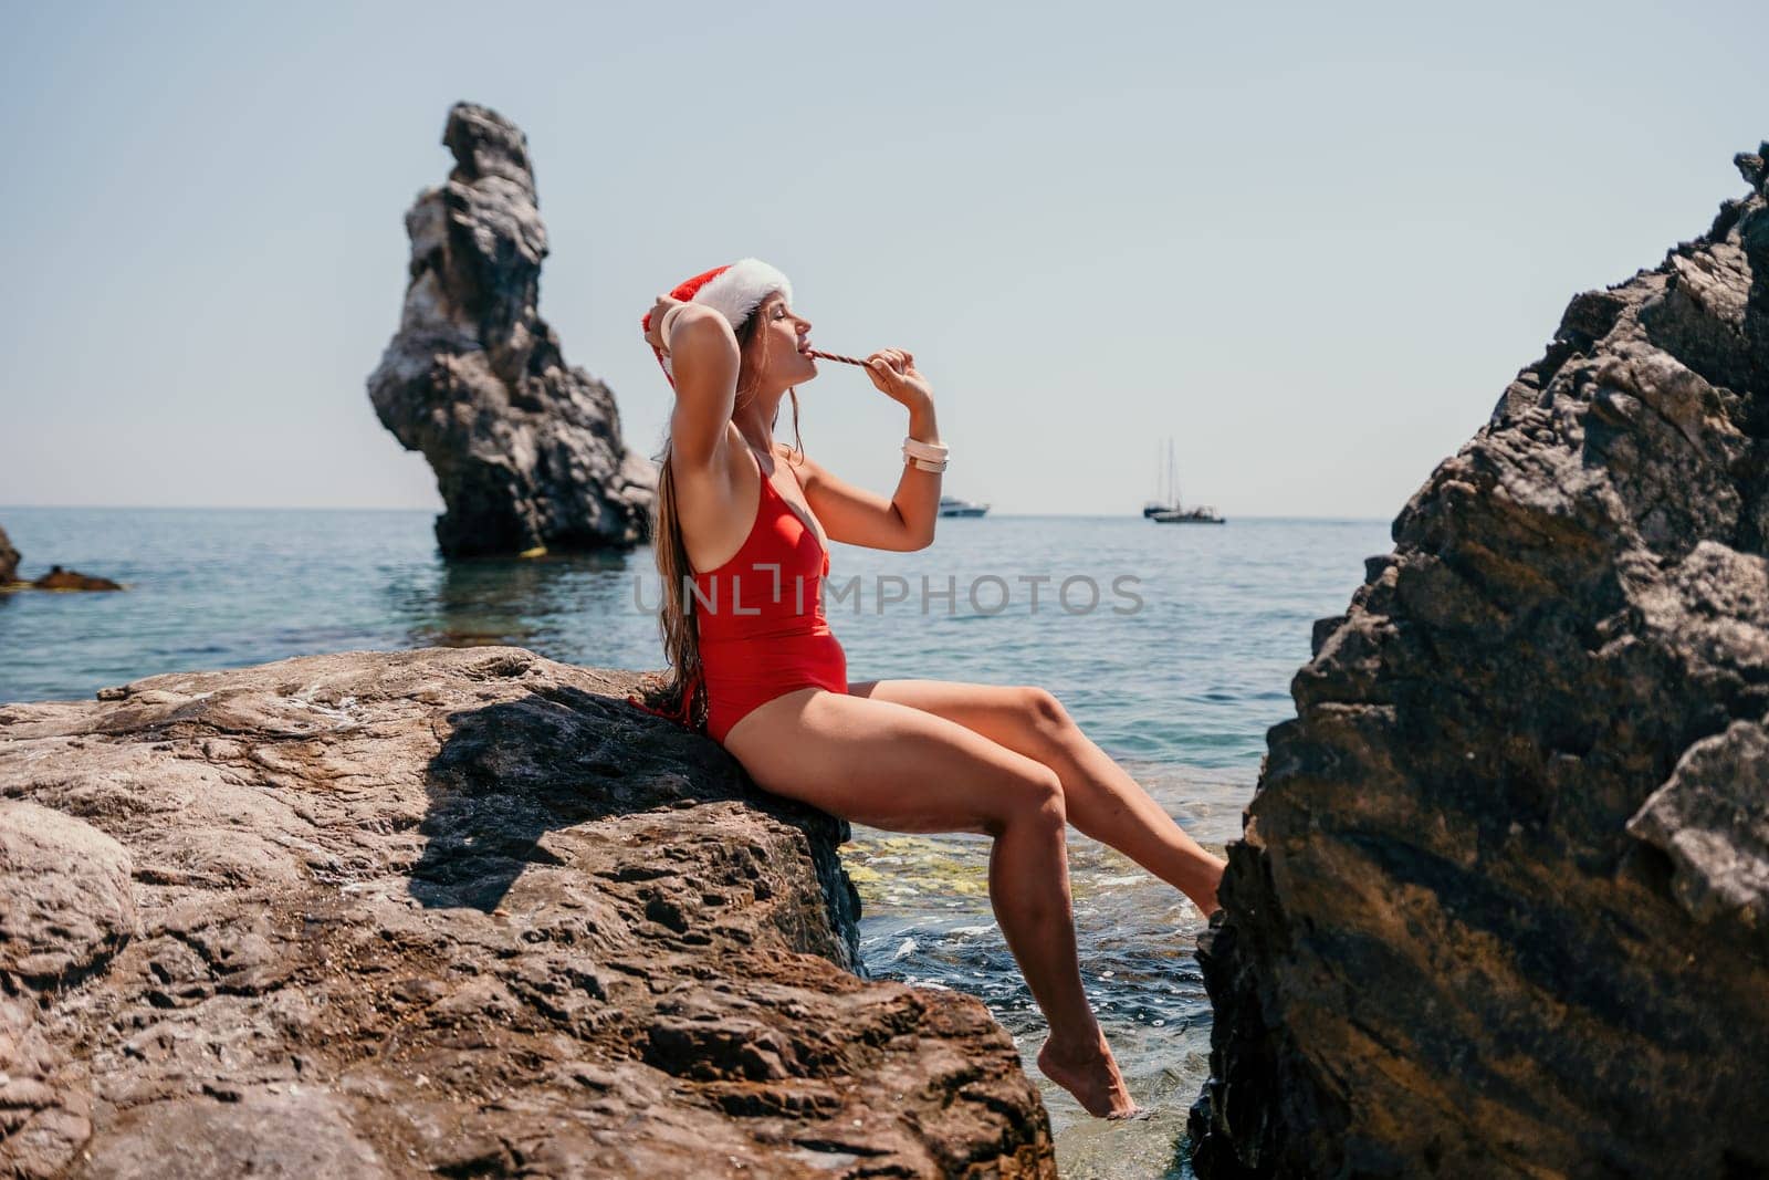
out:
{"label": "red one-piece swimsuit worn by the woman", "polygon": [[[706,731],[718,743],[750,709],[780,693],[807,685],[847,692],[847,655],[823,612],[830,554],[759,460],[755,471],[761,499],[743,548],[716,570],[695,573],[686,601],[699,630]],[[690,683],[672,720],[685,722],[692,701]]]}

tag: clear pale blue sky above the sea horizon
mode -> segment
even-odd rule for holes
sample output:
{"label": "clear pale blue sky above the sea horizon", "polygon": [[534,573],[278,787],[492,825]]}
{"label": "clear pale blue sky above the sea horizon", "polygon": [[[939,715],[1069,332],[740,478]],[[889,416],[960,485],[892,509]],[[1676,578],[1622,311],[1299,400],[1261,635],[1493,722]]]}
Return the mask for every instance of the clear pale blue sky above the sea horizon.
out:
{"label": "clear pale blue sky above the sea horizon", "polygon": [[[529,136],[541,315],[655,455],[720,262],[904,347],[1003,513],[1392,517],[1566,301],[1769,136],[1762,4],[5,4],[0,504],[440,506],[364,391],[448,108]],[[888,494],[839,364],[805,446]],[[777,435],[791,439],[789,410]]]}

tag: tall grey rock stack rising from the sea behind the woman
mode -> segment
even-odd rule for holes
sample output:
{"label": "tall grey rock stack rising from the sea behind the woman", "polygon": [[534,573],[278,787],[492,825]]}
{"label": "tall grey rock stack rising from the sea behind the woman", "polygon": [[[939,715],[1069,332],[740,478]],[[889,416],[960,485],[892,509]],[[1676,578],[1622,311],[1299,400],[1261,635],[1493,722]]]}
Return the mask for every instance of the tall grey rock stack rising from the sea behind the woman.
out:
{"label": "tall grey rock stack rising from the sea behind the woman", "polygon": [[437,543],[469,556],[646,541],[656,464],[626,449],[614,395],[566,366],[540,317],[547,228],[527,138],[456,103],[442,143],[455,170],[405,214],[405,311],[368,379],[382,425],[437,472]]}

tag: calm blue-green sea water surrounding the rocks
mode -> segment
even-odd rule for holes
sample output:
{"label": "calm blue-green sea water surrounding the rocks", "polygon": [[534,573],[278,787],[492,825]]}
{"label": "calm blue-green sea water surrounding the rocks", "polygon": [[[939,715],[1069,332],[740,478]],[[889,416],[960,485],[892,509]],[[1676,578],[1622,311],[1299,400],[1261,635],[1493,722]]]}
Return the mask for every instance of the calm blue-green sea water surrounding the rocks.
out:
{"label": "calm blue-green sea water surrounding the rocks", "polygon": [[[662,665],[649,550],[444,563],[430,522],[428,511],[0,508],[23,577],[57,563],[129,587],[0,594],[0,702],[435,644]],[[1385,520],[945,518],[913,554],[831,545],[831,594],[856,580],[826,610],[849,679],[1044,685],[1221,849],[1240,835],[1265,731],[1293,716],[1288,685],[1309,658],[1311,623],[1344,610],[1362,559],[1390,547]],[[1114,849],[1074,830],[1068,849],[1083,977],[1153,1118],[1086,1118],[1037,1072],[1044,1021],[991,916],[987,837],[854,828],[842,854],[865,904],[867,964],[989,1003],[1044,1092],[1065,1176],[1189,1175],[1178,1148],[1210,1049],[1192,959],[1203,920]]]}

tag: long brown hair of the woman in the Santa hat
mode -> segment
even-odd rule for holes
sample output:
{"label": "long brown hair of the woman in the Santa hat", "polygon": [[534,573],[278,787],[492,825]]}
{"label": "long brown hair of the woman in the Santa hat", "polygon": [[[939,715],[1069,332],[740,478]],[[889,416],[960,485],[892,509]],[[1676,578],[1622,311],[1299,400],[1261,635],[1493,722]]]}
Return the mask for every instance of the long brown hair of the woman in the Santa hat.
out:
{"label": "long brown hair of the woman in the Santa hat", "polygon": [[[764,299],[743,324],[736,327],[738,336],[738,391],[731,412],[755,395],[755,387],[766,377],[766,333],[762,331],[762,308],[775,295]],[[789,387],[793,398],[793,449],[803,458],[805,446],[798,435],[798,389]],[[770,423],[771,425],[771,423]],[[688,561],[688,548],[681,543],[681,517],[676,504],[676,474],[670,467],[670,435],[663,432],[663,449],[653,455],[658,462],[658,494],[653,501],[651,545],[663,579],[663,601],[658,609],[658,633],[663,639],[663,656],[669,660],[670,679],[662,685],[651,678],[642,685],[644,706],[667,713],[697,732],[706,732],[706,685],[701,679],[701,633],[699,624],[688,610],[690,579],[693,566]],[[796,460],[794,460],[796,462]],[[768,478],[766,474],[762,476]],[[692,697],[685,699],[692,686]]]}

